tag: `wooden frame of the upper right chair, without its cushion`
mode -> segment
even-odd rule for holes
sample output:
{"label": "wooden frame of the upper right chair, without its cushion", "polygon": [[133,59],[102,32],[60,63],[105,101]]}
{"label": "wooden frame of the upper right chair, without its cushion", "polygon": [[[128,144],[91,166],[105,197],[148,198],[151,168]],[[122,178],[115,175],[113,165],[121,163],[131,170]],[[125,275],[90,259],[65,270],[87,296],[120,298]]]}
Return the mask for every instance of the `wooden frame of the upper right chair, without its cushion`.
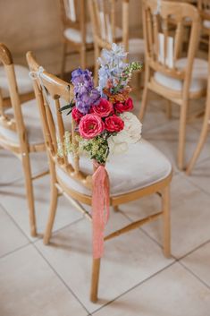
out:
{"label": "wooden frame of the upper right chair, without its cushion", "polygon": [[[189,17],[191,21],[191,33],[189,37],[189,50],[188,50],[188,64],[186,67],[179,71],[173,66],[172,68],[166,65],[166,58],[164,64],[158,61],[158,40],[153,38],[158,37],[158,21],[157,15],[154,15],[152,21],[151,12],[155,12],[157,7],[157,0],[143,0],[143,26],[144,38],[146,40],[146,64],[145,64],[145,88],[142,96],[142,103],[139,112],[140,120],[143,120],[147,108],[147,94],[148,90],[154,91],[156,94],[166,98],[169,101],[177,104],[181,108],[180,118],[180,131],[179,131],[179,148],[178,148],[178,166],[183,169],[184,164],[184,151],[185,151],[185,138],[186,138],[186,124],[187,115],[189,110],[189,99],[201,98],[206,95],[206,89],[197,92],[189,92],[191,73],[194,57],[197,50],[197,43],[200,30],[200,18],[197,8],[191,4],[179,3],[177,5],[173,2],[162,1],[159,16],[162,17],[164,23],[164,38],[168,38],[168,19],[173,17],[173,21],[177,22],[177,29],[175,34],[176,43],[174,45],[174,58],[179,58],[181,53],[182,33],[185,18]],[[153,33],[154,32],[154,33]],[[166,42],[164,39],[164,56],[166,56]],[[154,45],[154,48],[151,48]],[[174,60],[174,61],[175,61]],[[164,73],[172,78],[180,79],[183,81],[183,89],[181,91],[170,90],[165,88],[160,83],[154,80],[153,74],[155,72]],[[170,114],[169,114],[170,116]]]}

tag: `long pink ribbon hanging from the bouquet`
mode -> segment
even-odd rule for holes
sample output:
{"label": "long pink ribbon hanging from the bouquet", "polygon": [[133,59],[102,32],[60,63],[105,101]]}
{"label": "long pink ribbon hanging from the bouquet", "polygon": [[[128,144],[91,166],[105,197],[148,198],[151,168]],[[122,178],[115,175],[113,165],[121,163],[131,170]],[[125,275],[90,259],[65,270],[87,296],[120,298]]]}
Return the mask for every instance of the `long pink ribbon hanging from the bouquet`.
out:
{"label": "long pink ribbon hanging from the bouquet", "polygon": [[104,254],[105,224],[109,218],[109,176],[105,166],[94,163],[97,168],[92,176],[92,223],[93,257],[101,258]]}

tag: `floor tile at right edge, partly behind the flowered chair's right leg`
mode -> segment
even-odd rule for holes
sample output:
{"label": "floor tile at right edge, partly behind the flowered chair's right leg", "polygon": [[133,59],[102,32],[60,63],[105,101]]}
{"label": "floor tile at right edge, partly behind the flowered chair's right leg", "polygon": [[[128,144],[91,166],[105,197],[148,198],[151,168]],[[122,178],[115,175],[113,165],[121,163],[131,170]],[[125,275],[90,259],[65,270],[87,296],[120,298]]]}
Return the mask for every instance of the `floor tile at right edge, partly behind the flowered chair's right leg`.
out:
{"label": "floor tile at right edge, partly behind the flowered chair's right leg", "polygon": [[[181,258],[210,239],[210,196],[191,184],[187,176],[175,175],[172,179],[172,254]],[[161,208],[157,196],[121,206],[132,220],[143,218]],[[161,219],[142,226],[158,243],[163,243]]]}

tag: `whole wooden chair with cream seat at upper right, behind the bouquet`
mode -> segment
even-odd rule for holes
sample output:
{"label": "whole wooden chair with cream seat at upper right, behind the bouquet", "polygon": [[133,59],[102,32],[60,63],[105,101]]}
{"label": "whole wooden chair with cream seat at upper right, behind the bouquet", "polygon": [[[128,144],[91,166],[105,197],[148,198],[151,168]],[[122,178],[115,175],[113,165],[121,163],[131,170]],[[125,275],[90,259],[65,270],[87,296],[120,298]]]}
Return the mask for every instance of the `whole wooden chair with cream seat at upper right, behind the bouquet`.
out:
{"label": "whole wooden chair with cream seat at upper right, behind the bouquet", "polygon": [[[168,28],[171,17],[176,22],[172,32]],[[186,19],[190,23],[189,47],[186,57],[180,58]],[[148,90],[180,107],[178,166],[182,169],[189,100],[206,95],[207,62],[194,58],[200,30],[199,14],[191,4],[144,0],[143,25],[146,40],[145,88],[139,117],[143,120],[146,113]]]}

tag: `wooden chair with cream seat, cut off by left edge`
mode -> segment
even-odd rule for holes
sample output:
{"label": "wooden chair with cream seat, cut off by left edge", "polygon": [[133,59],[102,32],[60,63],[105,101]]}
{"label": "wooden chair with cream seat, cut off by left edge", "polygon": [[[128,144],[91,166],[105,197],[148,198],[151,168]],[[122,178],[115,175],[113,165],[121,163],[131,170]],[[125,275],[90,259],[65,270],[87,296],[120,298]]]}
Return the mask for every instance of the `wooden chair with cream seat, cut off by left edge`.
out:
{"label": "wooden chair with cream seat, cut off by left edge", "polygon": [[14,72],[13,57],[4,44],[0,44],[0,62],[4,64],[9,97],[12,103],[11,108],[5,109],[4,98],[0,93],[0,147],[10,150],[15,156],[21,159],[26,196],[29,204],[30,234],[35,236],[37,235],[37,231],[32,181],[46,174],[45,172],[32,177],[29,161],[29,154],[31,152],[45,150],[38,108],[36,99],[21,103]]}

